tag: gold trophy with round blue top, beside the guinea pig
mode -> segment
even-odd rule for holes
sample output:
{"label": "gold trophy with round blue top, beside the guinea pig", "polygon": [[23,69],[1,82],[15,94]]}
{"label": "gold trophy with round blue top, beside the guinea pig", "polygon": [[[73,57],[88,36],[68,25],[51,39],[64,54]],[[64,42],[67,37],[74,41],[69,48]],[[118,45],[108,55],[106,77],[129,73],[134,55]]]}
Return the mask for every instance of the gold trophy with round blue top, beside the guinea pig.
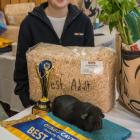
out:
{"label": "gold trophy with round blue top, beside the guinea pig", "polygon": [[52,69],[52,63],[49,60],[41,61],[36,67],[42,88],[42,98],[32,109],[33,114],[46,114],[50,110],[50,101],[48,99],[49,73]]}

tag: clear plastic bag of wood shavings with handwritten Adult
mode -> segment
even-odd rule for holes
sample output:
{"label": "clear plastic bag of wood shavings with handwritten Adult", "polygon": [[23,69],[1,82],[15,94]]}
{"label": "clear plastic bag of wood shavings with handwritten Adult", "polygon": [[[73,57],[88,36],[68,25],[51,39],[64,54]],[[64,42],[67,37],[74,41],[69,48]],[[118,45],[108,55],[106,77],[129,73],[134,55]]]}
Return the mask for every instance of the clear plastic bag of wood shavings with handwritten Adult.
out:
{"label": "clear plastic bag of wood shavings with handwritten Adult", "polygon": [[52,62],[48,98],[69,94],[109,111],[114,104],[115,53],[106,47],[62,47],[40,43],[27,52],[30,97],[42,97],[38,65]]}

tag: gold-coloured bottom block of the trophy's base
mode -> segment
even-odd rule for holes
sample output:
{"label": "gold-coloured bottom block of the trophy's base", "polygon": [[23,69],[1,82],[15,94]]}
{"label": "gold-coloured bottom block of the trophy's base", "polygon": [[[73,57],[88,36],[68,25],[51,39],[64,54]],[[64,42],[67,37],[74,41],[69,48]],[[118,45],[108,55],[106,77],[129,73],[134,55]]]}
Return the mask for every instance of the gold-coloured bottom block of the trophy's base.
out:
{"label": "gold-coloured bottom block of the trophy's base", "polygon": [[41,109],[36,105],[32,108],[32,114],[34,115],[46,115],[47,113],[48,113],[47,109]]}

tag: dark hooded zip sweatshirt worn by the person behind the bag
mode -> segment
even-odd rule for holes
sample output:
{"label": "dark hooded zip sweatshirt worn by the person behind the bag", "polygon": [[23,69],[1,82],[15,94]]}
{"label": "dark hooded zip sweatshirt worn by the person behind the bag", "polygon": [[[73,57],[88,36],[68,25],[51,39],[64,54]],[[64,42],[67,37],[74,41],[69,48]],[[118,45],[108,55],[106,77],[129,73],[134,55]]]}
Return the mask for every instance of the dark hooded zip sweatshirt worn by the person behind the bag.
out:
{"label": "dark hooded zip sweatshirt worn by the person behind the bag", "polygon": [[19,95],[24,107],[31,104],[25,55],[30,47],[39,42],[63,46],[94,46],[93,28],[90,19],[76,6],[71,4],[68,6],[69,12],[60,39],[44,12],[47,6],[48,3],[43,3],[36,7],[20,26],[14,81],[16,82],[15,94]]}

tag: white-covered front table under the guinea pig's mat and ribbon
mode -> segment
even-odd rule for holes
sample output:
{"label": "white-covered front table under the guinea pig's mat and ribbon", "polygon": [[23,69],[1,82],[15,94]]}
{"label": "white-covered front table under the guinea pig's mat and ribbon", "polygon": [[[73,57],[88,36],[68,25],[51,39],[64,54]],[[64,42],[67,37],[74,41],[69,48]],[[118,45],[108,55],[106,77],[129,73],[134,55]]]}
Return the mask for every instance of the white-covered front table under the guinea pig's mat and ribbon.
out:
{"label": "white-covered front table under the guinea pig's mat and ribbon", "polygon": [[[31,109],[32,107],[27,108],[8,120],[22,118],[23,116],[30,114]],[[105,114],[105,118],[130,129],[132,131],[132,136],[129,138],[129,140],[140,140],[140,118],[127,111],[118,103],[116,103],[115,107],[109,113]],[[17,137],[2,127],[0,127],[0,139],[1,138],[2,140],[19,140]]]}

